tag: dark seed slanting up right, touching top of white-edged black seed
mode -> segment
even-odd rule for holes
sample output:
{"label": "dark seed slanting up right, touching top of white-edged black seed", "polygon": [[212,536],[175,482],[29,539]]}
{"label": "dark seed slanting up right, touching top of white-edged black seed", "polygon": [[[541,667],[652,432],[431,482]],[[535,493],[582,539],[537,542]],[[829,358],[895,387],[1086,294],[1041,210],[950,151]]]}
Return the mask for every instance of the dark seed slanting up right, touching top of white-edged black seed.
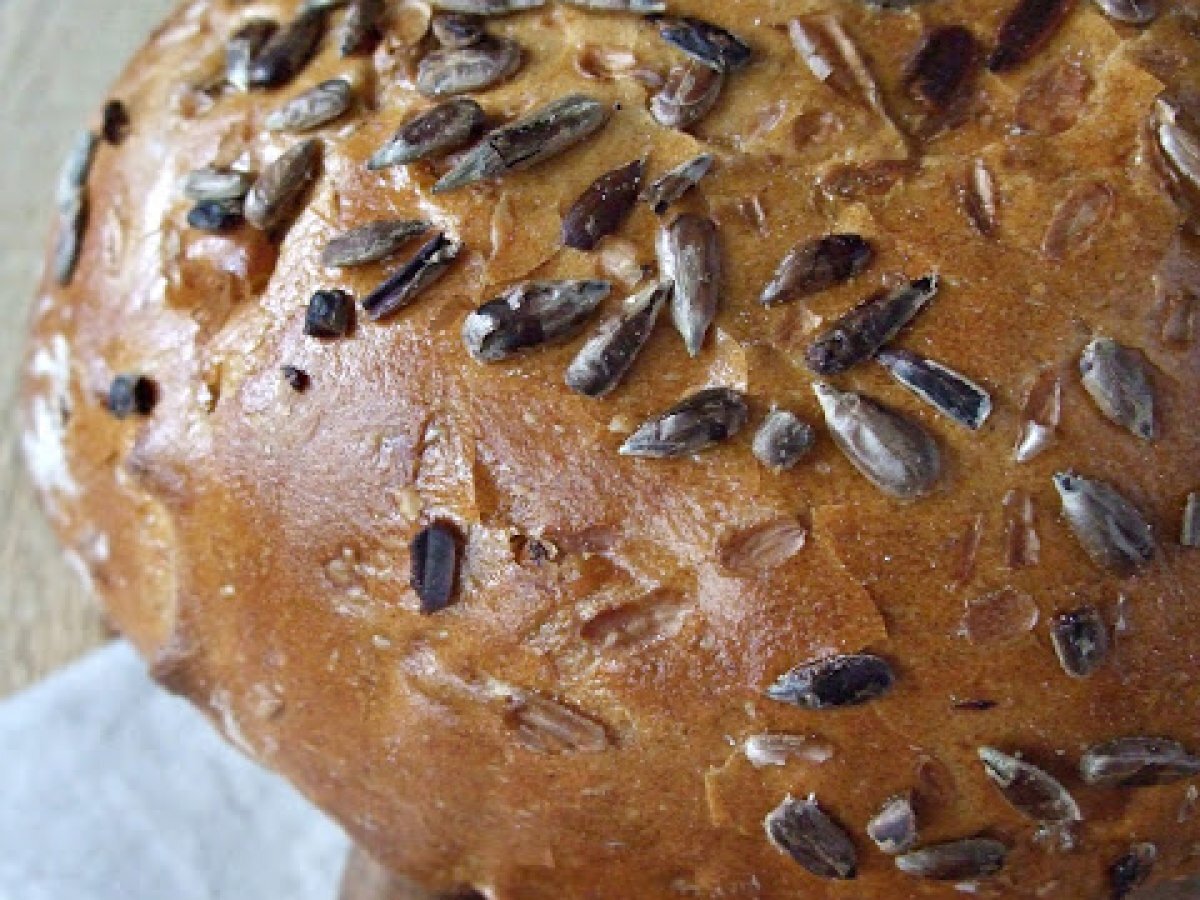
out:
{"label": "dark seed slanting up right, touching top of white-edged black seed", "polygon": [[809,346],[804,354],[809,368],[829,376],[869,360],[912,322],[937,293],[937,276],[930,275],[871,295]]}

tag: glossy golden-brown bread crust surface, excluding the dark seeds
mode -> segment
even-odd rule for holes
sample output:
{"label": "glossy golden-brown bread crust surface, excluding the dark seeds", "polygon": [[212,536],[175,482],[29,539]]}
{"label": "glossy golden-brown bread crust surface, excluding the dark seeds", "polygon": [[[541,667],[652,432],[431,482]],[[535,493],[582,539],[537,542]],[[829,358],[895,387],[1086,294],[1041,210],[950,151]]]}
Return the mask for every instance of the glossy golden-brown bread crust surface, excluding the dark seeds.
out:
{"label": "glossy golden-brown bread crust surface, excluding the dark seeds", "polygon": [[[1108,866],[1130,840],[1157,845],[1157,876],[1194,871],[1194,781],[1088,787],[1075,766],[1123,734],[1200,751],[1200,551],[1177,546],[1200,487],[1200,257],[1146,137],[1164,88],[1200,96],[1198,12],[1164,4],[1139,31],[1081,4],[1028,64],[980,73],[964,120],[922,142],[908,137],[919,110],[901,79],[923,31],[966,23],[986,46],[1008,4],[670,5],[755,52],[691,133],[653,121],[636,77],[583,74],[608,49],[631,52],[643,78],[665,73],[680,58],[652,23],[556,2],[488,22],[526,59],[479,102],[503,121],[582,91],[614,107],[608,125],[530,172],[437,196],[443,164],[364,167],[427,106],[410,80],[426,44],[406,43],[421,32],[420,4],[397,5],[371,58],[342,60],[326,40],[292,85],[216,97],[188,79],[220,62],[247,14],[286,20],[299,4],[181,8],[113,89],[131,133],[98,149],[77,272],[67,288],[48,277],[37,305],[28,452],[64,542],[167,686],[433,889],[958,895],[870,846],[868,820],[902,792],[916,797],[923,844],[988,834],[1010,845],[1004,871],[978,886],[985,896],[1106,896]],[[791,18],[832,12],[881,84],[878,108],[818,84],[792,47]],[[361,97],[318,132],[322,174],[278,244],[248,227],[190,229],[182,178],[238,160],[262,168],[298,140],[265,132],[264,116],[335,73]],[[560,216],[617,166],[647,157],[656,178],[698,152],[718,166],[677,209],[718,222],[726,272],[698,359],[668,316],[605,400],[563,384],[578,341],[492,366],[467,356],[463,318],[514,282],[653,265],[658,223],[644,204],[595,254],[559,246]],[[872,164],[886,181],[860,196],[817,187],[852,185],[846,167]],[[962,206],[980,164],[995,182],[994,228],[978,197]],[[1109,198],[1094,236],[1048,250],[1057,211],[1088,185]],[[385,322],[360,314],[344,340],[306,337],[316,289],[362,296],[395,268],[323,269],[325,241],[415,216],[466,245],[446,277]],[[866,272],[806,302],[758,305],[793,245],[846,230],[876,245]],[[988,424],[971,432],[938,416],[874,364],[835,383],[928,427],[947,469],[932,496],[889,499],[823,428],[794,469],[756,462],[752,427],[773,404],[821,421],[803,359],[821,323],[930,272],[942,289],[898,343],[983,384]],[[605,310],[631,287],[618,283]],[[1096,336],[1153,367],[1153,443],[1105,419],[1081,386],[1078,358]],[[307,371],[311,386],[292,390],[282,365]],[[118,420],[103,398],[130,371],[152,377],[160,400],[149,416]],[[1061,425],[1018,463],[1026,396],[1048,371],[1061,379]],[[636,425],[707,384],[745,390],[751,428],[695,460],[618,455]],[[1098,569],[1073,538],[1052,482],[1068,468],[1146,514],[1158,554],[1136,577]],[[722,565],[740,533],[797,517],[808,539],[781,564]],[[466,536],[461,589],[424,617],[408,547],[438,518]],[[1115,648],[1076,680],[1049,623],[1086,604]],[[870,704],[804,712],[763,695],[794,665],[864,650],[898,679]],[[744,742],[772,732],[815,736],[832,756],[757,768]],[[1074,850],[1004,803],[980,745],[1021,751],[1062,780],[1084,815]],[[767,841],[763,817],[810,793],[857,844],[856,882],[821,881]]]}

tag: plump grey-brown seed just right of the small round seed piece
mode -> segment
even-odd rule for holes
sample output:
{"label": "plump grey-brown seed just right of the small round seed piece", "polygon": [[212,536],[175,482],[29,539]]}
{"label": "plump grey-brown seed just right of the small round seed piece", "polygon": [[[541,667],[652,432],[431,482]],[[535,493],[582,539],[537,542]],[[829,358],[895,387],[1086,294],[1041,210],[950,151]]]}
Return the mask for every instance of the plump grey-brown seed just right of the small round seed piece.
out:
{"label": "plump grey-brown seed just right of the small round seed piece", "polygon": [[917,422],[870,397],[814,385],[834,443],[884,493],[916,499],[942,474],[934,438]]}

